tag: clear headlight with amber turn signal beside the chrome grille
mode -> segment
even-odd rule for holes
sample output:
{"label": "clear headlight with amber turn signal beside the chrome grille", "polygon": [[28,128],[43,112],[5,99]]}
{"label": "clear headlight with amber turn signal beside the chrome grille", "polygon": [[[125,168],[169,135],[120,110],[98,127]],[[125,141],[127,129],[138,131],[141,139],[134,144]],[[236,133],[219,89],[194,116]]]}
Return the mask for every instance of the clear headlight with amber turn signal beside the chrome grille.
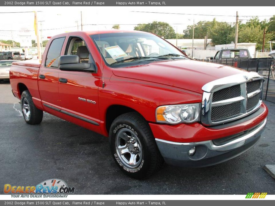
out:
{"label": "clear headlight with amber turn signal beside the chrome grille", "polygon": [[156,121],[169,124],[199,121],[200,104],[177,104],[160,106],[156,109]]}

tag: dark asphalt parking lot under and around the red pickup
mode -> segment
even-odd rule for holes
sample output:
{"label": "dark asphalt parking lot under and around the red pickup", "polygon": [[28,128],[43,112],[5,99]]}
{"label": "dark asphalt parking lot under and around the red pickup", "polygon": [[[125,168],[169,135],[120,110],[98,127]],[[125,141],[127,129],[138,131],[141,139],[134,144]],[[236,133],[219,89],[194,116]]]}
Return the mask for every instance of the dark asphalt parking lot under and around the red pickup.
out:
{"label": "dark asphalt parking lot under and around the red pickup", "polygon": [[39,125],[23,120],[9,82],[0,84],[0,194],[4,184],[32,186],[58,178],[75,194],[275,194],[262,167],[275,164],[275,104],[262,138],[246,153],[206,168],[164,165],[148,180],[123,175],[111,159],[108,139],[44,113]]}

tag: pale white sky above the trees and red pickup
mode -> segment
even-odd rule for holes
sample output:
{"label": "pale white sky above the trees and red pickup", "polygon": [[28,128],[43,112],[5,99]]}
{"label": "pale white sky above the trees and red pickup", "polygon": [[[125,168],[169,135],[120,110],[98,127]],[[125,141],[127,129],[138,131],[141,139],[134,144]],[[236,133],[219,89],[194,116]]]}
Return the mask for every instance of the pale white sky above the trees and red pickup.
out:
{"label": "pale white sky above the trees and red pickup", "polygon": [[[269,19],[269,16],[275,15],[274,8],[275,7],[5,7],[5,10],[1,12],[41,11],[38,12],[38,21],[43,21],[42,38],[46,40],[47,37],[59,33],[77,31],[77,29],[81,30],[80,11],[82,11],[84,31],[109,30],[113,24],[120,24],[120,29],[123,30],[133,30],[138,23],[164,21],[169,23],[175,31],[177,30],[178,33],[182,33],[188,25],[193,24],[193,20],[197,23],[204,20],[211,21],[215,17],[217,21],[234,23],[236,20],[236,11],[238,11],[240,16],[239,19],[244,19],[244,22],[251,18],[245,17],[245,15],[258,15],[260,20],[264,20]],[[205,14],[214,16],[140,13],[133,11]],[[8,40],[13,37],[14,41],[19,41],[19,35],[26,34],[22,32],[22,30],[30,30],[28,35],[31,35],[32,39],[36,38],[33,31],[33,12],[0,13],[0,16],[1,19],[9,19],[9,21],[0,22],[0,39]],[[76,21],[78,22],[78,27]]]}

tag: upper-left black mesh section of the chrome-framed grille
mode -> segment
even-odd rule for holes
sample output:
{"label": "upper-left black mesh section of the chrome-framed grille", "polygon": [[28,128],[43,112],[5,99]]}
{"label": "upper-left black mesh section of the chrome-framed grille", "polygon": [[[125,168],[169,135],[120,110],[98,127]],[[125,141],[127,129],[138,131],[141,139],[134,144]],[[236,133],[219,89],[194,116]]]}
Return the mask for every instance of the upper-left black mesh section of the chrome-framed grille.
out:
{"label": "upper-left black mesh section of the chrome-framed grille", "polygon": [[217,102],[217,101],[231,99],[238,96],[241,96],[241,87],[240,85],[235,85],[235,86],[227,87],[217,92],[214,92],[212,101]]}

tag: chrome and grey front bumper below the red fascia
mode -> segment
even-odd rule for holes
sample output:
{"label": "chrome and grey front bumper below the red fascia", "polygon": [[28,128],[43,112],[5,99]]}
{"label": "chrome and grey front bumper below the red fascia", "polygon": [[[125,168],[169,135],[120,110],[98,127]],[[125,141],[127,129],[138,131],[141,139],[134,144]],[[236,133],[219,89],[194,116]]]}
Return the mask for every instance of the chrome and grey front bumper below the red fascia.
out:
{"label": "chrome and grey front bumper below the red fascia", "polygon": [[[238,155],[252,148],[260,139],[266,126],[267,118],[255,129],[242,132],[238,138],[224,141],[222,144],[215,144],[215,140],[203,142],[170,142],[156,138],[160,153],[166,163],[184,167],[206,167],[215,165]],[[193,156],[188,155],[191,148],[196,147]]]}

